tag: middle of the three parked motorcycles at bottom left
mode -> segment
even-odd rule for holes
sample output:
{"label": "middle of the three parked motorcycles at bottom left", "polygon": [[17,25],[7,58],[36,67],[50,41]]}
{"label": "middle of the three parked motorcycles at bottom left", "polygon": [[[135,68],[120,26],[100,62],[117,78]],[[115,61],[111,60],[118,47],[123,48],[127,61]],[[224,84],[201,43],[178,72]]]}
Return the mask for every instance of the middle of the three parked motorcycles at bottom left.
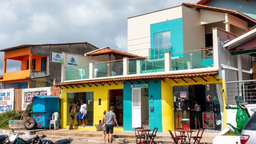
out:
{"label": "middle of the three parked motorcycles at bottom left", "polygon": [[33,141],[35,139],[38,139],[38,135],[35,135],[35,137],[28,139],[28,140],[23,140],[22,138],[18,137],[20,134],[25,134],[22,132],[14,132],[12,129],[12,134],[10,137],[7,137],[2,144],[33,144]]}

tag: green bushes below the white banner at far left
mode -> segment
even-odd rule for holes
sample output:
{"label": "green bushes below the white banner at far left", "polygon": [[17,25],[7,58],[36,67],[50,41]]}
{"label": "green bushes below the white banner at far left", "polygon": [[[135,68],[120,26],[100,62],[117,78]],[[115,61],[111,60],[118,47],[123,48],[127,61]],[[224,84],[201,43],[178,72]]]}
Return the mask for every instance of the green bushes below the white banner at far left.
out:
{"label": "green bushes below the white banner at far left", "polygon": [[7,128],[10,120],[19,120],[22,116],[22,111],[9,110],[0,113],[0,128]]}

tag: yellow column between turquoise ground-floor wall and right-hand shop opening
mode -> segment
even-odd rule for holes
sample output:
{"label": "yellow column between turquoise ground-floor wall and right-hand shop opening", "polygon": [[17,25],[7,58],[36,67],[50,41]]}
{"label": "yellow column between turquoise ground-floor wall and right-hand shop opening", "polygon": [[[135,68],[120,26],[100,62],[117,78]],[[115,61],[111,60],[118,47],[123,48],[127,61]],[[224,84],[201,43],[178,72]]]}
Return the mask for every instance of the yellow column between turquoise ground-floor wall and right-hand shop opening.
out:
{"label": "yellow column between turquoise ground-floor wall and right-hand shop opening", "polygon": [[162,128],[163,132],[174,129],[174,111],[173,111],[173,87],[169,79],[161,82],[162,91]]}

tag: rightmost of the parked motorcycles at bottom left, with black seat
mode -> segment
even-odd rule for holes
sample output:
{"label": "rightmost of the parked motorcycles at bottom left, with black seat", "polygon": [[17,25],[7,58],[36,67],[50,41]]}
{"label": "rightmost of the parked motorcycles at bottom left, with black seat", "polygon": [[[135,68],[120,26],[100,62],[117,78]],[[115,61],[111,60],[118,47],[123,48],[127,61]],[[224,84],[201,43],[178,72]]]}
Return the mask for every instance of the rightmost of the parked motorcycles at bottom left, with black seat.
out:
{"label": "rightmost of the parked motorcycles at bottom left, with black seat", "polygon": [[73,141],[73,139],[71,138],[67,138],[67,139],[63,139],[63,140],[57,140],[53,143],[53,141],[51,140],[42,140],[46,137],[46,135],[42,135],[42,136],[39,136],[39,138],[37,140],[34,140],[33,143],[34,144],[71,144],[71,142]]}

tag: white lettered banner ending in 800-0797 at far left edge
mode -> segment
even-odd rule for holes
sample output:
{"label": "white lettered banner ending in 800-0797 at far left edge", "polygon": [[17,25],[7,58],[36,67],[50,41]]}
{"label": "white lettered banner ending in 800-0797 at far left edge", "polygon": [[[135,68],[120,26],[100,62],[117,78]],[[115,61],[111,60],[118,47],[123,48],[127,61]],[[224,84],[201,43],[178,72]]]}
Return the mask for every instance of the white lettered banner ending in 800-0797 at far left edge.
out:
{"label": "white lettered banner ending in 800-0797 at far left edge", "polygon": [[0,90],[0,113],[14,109],[14,88]]}

